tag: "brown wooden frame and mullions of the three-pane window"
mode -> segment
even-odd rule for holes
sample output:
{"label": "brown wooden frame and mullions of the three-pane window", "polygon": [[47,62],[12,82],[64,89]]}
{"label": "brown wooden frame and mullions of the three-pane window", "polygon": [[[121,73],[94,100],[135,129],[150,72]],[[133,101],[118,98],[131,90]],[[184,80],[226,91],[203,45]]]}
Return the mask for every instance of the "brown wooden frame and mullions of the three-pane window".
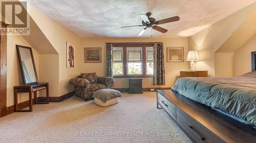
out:
{"label": "brown wooden frame and mullions of the three-pane window", "polygon": [[[124,44],[112,44],[113,48],[123,48],[123,75],[113,75],[114,78],[142,78],[142,77],[148,77],[151,78],[153,77],[152,74],[147,74],[147,53],[146,53],[146,47],[153,47],[154,43],[124,43]],[[128,53],[127,53],[127,48],[142,48],[142,56],[141,56],[141,69],[142,69],[142,74],[128,74]]]}

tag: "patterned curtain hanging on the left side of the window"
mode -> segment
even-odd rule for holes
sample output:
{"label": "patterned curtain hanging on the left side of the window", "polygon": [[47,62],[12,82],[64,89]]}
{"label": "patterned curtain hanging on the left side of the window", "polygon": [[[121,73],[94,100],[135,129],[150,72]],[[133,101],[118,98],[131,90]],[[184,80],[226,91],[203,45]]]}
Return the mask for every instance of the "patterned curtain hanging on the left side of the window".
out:
{"label": "patterned curtain hanging on the left side of the window", "polygon": [[106,77],[113,77],[113,46],[106,44]]}

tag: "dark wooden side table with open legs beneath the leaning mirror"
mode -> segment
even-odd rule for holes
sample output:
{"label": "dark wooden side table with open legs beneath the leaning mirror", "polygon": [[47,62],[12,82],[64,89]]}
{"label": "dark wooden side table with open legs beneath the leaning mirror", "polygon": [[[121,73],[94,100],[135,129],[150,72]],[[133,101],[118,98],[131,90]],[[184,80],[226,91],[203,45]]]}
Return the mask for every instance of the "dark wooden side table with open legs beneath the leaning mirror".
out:
{"label": "dark wooden side table with open legs beneath the leaning mirror", "polygon": [[[37,91],[46,90],[46,102],[37,102]],[[29,110],[18,110],[18,93],[29,93]],[[33,111],[33,97],[34,104],[49,104],[49,83],[37,83],[32,85],[21,85],[14,87],[14,112],[32,112]]]}

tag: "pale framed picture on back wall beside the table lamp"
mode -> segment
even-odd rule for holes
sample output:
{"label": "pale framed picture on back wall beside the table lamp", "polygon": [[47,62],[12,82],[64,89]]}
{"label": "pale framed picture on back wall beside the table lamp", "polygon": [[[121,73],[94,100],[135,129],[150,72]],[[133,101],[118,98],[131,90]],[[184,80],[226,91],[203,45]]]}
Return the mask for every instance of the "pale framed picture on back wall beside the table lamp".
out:
{"label": "pale framed picture on back wall beside the table lamp", "polygon": [[167,47],[167,62],[184,62],[184,47]]}

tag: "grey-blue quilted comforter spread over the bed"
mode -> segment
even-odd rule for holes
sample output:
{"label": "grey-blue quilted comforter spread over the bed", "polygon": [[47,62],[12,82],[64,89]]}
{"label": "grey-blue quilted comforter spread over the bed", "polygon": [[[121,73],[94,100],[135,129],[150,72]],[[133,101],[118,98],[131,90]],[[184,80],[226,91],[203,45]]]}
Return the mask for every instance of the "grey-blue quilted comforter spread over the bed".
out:
{"label": "grey-blue quilted comforter spread over the bed", "polygon": [[181,95],[256,125],[256,72],[238,77],[179,78],[172,88]]}

